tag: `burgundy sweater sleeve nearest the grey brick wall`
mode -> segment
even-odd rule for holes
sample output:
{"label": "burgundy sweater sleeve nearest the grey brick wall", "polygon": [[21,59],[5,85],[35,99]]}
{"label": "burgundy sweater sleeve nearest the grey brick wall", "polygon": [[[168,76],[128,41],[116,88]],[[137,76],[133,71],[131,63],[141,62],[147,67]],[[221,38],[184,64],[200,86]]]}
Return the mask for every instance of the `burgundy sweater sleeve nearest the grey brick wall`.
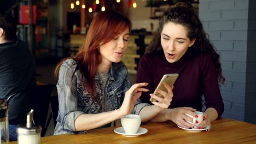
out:
{"label": "burgundy sweater sleeve nearest the grey brick wall", "polygon": [[218,112],[219,118],[224,111],[224,104],[220,94],[217,70],[210,54],[203,55],[200,63],[206,108],[212,107],[215,109]]}

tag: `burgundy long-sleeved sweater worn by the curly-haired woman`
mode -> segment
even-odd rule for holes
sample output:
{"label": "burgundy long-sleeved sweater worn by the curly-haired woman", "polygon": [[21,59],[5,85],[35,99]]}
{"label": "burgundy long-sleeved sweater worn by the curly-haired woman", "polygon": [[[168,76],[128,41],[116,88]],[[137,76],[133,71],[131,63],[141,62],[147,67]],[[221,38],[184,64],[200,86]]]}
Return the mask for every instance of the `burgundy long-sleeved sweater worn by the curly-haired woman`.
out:
{"label": "burgundy long-sleeved sweater worn by the curly-haired woman", "polygon": [[[137,71],[137,83],[148,82],[149,92],[143,92],[143,103],[152,104],[149,93],[153,93],[164,74],[178,73],[174,83],[173,99],[169,108],[193,107],[202,111],[203,104],[206,108],[213,107],[220,117],[224,111],[222,96],[220,95],[217,71],[209,53],[197,54],[194,58],[188,53],[174,63],[169,63],[163,52],[143,55]],[[205,97],[205,103],[202,100]]]}

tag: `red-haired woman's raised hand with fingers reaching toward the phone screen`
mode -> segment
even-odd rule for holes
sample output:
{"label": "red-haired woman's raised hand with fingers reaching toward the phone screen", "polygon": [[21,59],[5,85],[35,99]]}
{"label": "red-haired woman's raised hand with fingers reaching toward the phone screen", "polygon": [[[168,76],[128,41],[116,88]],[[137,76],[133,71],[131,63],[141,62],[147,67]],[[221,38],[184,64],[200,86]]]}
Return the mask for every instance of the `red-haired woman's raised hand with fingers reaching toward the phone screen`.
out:
{"label": "red-haired woman's raised hand with fingers reaching toward the phone screen", "polygon": [[[131,88],[125,93],[125,98],[123,104],[121,105],[119,111],[123,116],[126,116],[131,113],[133,107],[135,106],[136,100],[141,97],[142,92],[147,92],[147,88],[143,88],[148,86],[148,83],[135,83],[131,86]],[[135,94],[136,93],[136,94]],[[133,97],[133,95],[135,96]]]}

